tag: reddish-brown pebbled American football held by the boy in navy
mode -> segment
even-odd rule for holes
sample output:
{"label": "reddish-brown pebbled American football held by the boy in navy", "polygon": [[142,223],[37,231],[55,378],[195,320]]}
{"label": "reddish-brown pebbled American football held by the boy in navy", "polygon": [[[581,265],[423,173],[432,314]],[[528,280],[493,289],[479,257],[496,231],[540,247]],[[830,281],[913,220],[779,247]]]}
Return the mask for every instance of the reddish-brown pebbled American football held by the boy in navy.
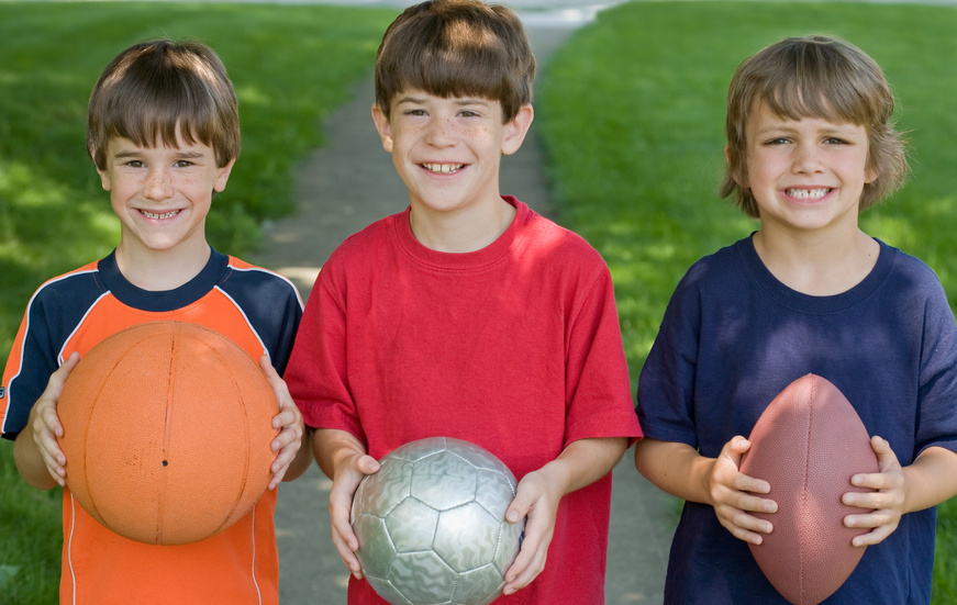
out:
{"label": "reddish-brown pebbled American football held by the boy in navy", "polygon": [[774,530],[750,551],[765,576],[794,605],[816,605],[844,584],[865,547],[868,529],[844,526],[868,513],[841,502],[857,473],[875,473],[877,455],[860,417],[841,391],[820,376],[799,378],[775,397],[752,430],[741,472],[767,481],[778,503]]}

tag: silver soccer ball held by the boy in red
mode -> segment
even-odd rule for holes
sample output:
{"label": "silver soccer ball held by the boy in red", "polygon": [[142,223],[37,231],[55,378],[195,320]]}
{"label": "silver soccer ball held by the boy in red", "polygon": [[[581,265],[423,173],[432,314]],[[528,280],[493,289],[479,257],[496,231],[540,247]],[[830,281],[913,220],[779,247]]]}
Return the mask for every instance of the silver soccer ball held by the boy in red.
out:
{"label": "silver soccer ball held by the boy in red", "polygon": [[515,477],[485,449],[432,437],[380,460],[353,500],[363,574],[392,605],[485,605],[502,594],[524,522]]}

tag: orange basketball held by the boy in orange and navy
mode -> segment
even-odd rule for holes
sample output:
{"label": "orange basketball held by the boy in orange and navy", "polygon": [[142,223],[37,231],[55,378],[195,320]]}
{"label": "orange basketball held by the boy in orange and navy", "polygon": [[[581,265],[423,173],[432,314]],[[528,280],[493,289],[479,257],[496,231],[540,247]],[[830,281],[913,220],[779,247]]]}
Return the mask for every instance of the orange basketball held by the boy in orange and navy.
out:
{"label": "orange basketball held by the boy in orange and navy", "polygon": [[266,491],[277,413],[258,363],[218,332],[183,322],[118,332],[80,359],[57,404],[67,486],[123,537],[203,540]]}

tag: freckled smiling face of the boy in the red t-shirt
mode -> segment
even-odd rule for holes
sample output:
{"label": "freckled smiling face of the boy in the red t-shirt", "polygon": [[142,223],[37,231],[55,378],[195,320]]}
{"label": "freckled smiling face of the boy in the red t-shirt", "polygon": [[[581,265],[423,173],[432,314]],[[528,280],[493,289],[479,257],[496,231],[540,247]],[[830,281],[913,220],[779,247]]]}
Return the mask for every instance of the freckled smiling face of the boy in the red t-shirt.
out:
{"label": "freckled smiling face of the boy in the red t-shirt", "polygon": [[452,212],[501,201],[501,156],[522,145],[532,107],[503,124],[499,101],[408,90],[392,100],[390,116],[372,108],[382,146],[409,188],[413,211]]}

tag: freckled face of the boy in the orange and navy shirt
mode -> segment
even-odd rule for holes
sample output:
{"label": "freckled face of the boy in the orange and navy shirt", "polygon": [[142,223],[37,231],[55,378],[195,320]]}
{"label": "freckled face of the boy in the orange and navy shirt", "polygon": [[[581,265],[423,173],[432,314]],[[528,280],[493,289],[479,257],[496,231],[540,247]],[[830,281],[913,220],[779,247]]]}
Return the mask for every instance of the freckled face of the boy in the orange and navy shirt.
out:
{"label": "freckled face of the boy in the orange and navy shirt", "polygon": [[205,245],[213,191],[226,187],[234,161],[220,168],[212,147],[187,144],[178,132],[176,147],[111,138],[98,172],[120,217],[122,244],[157,251]]}

